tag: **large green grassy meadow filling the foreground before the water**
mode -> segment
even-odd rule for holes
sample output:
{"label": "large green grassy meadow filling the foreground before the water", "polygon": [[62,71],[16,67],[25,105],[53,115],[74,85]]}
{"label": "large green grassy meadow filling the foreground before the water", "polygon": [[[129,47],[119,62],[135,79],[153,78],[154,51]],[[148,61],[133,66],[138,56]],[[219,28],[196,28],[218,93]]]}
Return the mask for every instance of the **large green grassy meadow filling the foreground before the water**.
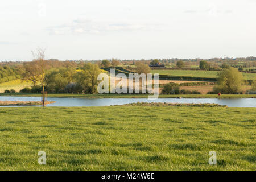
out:
{"label": "large green grassy meadow filling the foreground before the water", "polygon": [[[256,109],[2,107],[0,170],[255,170]],[[208,164],[209,151],[217,165]],[[45,151],[46,165],[38,164]]]}

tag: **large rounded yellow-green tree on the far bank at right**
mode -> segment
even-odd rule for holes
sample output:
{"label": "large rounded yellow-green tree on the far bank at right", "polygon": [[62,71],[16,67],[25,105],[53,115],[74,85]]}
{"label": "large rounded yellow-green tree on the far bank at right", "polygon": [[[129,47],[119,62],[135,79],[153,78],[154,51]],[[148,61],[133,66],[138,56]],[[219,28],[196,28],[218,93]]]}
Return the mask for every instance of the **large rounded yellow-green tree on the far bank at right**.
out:
{"label": "large rounded yellow-green tree on the far bank at right", "polygon": [[242,92],[243,76],[236,68],[224,68],[218,73],[217,86],[214,87],[214,92],[225,94],[237,94]]}

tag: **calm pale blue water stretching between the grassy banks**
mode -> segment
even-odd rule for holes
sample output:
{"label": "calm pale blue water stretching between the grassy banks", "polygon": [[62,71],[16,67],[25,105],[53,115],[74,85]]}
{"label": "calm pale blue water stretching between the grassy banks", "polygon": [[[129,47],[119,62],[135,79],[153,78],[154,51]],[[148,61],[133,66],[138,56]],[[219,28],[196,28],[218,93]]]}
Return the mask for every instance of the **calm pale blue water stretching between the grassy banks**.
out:
{"label": "calm pale blue water stretching between the grassy banks", "polygon": [[[40,97],[0,97],[0,101],[40,101]],[[47,106],[110,106],[122,105],[134,102],[170,102],[170,103],[214,103],[227,105],[228,107],[256,107],[256,98],[158,98],[148,100],[147,98],[58,98],[48,97],[47,101],[56,103]]]}

